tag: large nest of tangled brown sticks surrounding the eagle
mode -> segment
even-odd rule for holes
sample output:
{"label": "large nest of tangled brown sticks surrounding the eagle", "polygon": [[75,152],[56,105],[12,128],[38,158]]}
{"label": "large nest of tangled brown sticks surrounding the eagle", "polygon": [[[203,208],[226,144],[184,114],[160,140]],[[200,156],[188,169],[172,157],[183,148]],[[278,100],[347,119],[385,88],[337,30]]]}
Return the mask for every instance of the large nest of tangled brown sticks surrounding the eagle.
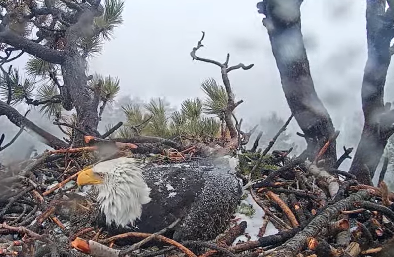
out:
{"label": "large nest of tangled brown sticks surrounding the eagle", "polygon": [[[239,219],[211,242],[175,242],[161,236],[163,231],[108,238],[100,228],[91,227],[95,202],[81,195],[74,181],[78,171],[99,160],[90,150],[45,152],[1,168],[0,255],[357,257],[390,251],[381,247],[394,235],[394,194],[384,182],[379,187],[361,185],[346,172],[324,170],[316,160],[289,158],[288,151],[240,155],[237,169],[247,183],[245,193],[265,214],[257,238],[245,237],[249,224]],[[193,147],[183,152],[161,148],[155,155],[137,157],[167,163],[203,158]],[[245,206],[239,212],[256,215]],[[269,223],[276,234],[267,235]],[[131,248],[112,245],[124,236],[145,239]],[[161,244],[140,249],[146,241]]]}

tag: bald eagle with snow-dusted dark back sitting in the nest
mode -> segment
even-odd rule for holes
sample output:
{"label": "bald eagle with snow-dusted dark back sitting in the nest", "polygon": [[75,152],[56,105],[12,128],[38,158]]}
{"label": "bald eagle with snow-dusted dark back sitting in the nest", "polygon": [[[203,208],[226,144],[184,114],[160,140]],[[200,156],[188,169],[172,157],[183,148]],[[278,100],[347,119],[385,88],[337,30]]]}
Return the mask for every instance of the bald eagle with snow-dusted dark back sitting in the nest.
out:
{"label": "bald eagle with snow-dusted dark back sitting in the nest", "polygon": [[165,234],[175,240],[214,239],[229,225],[241,196],[226,158],[144,166],[121,157],[82,171],[77,184],[93,185],[100,210],[96,225],[109,235],[154,233],[180,218]]}

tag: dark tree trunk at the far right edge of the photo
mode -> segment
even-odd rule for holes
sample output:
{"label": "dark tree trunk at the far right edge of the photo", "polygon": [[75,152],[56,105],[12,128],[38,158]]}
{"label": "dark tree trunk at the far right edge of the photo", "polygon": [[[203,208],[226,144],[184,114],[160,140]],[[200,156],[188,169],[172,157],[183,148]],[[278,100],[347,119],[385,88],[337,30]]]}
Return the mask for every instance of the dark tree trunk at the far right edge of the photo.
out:
{"label": "dark tree trunk at the far right edge of the photo", "polygon": [[390,65],[390,41],[393,38],[394,13],[385,12],[384,0],[367,0],[366,29],[368,59],[362,81],[364,127],[349,173],[360,183],[368,182],[366,166],[373,178],[387,140],[393,134],[393,110],[383,102],[387,70]]}

